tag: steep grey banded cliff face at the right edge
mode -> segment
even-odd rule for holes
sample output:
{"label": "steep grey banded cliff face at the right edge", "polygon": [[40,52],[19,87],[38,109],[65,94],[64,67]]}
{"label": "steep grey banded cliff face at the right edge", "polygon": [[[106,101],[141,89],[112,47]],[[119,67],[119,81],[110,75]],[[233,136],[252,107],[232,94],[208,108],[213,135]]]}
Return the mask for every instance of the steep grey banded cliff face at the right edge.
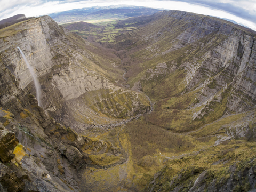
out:
{"label": "steep grey banded cliff face at the right edge", "polygon": [[[218,34],[221,32],[218,31]],[[184,82],[186,91],[195,87],[202,89],[198,95],[200,102],[196,106],[204,102],[206,106],[202,108],[205,112],[201,110],[195,115],[199,118],[208,114],[206,109],[213,106],[213,102],[223,99],[223,93],[229,94],[226,103],[229,112],[226,111],[226,114],[250,110],[255,105],[255,36],[235,28],[224,34],[225,37],[220,37],[222,42],[211,50],[205,43],[199,42],[198,45],[206,46],[207,50],[200,60],[193,58],[180,66],[187,72]],[[213,41],[211,39],[210,42]]]}

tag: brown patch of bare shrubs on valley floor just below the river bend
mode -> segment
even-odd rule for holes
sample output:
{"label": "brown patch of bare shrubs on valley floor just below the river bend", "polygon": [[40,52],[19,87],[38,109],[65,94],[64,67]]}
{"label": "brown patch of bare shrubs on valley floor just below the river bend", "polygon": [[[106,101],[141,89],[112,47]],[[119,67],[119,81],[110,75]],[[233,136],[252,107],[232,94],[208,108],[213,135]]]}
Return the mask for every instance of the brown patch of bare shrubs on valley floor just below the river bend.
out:
{"label": "brown patch of bare shrubs on valley floor just below the river bend", "polygon": [[175,153],[193,146],[189,140],[145,121],[127,124],[125,133],[130,135],[132,156],[135,162],[139,162],[145,156],[152,156],[157,151]]}

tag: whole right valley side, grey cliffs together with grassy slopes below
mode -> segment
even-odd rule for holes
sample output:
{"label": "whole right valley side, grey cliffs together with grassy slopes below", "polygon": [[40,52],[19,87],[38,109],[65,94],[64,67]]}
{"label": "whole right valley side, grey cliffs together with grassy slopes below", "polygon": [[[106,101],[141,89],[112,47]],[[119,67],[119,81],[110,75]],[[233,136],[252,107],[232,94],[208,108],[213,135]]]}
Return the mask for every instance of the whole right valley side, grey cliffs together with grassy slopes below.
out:
{"label": "whole right valley side, grey cliffs together with grassy slopes below", "polygon": [[119,45],[113,46],[124,48],[119,54],[134,89],[155,99],[197,90],[191,98],[196,103],[190,100],[183,106],[203,106],[194,119],[211,113],[209,108],[222,100],[227,108],[218,117],[254,107],[255,32],[182,11],[164,11],[156,17],[145,27],[120,35]]}

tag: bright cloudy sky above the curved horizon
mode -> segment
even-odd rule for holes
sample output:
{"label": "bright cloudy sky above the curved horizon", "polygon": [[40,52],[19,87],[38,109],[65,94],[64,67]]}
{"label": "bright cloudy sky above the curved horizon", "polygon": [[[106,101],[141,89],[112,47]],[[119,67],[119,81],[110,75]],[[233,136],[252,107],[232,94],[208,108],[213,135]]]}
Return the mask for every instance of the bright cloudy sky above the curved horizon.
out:
{"label": "bright cloudy sky above the curved horizon", "polygon": [[256,0],[0,0],[0,20],[16,14],[37,17],[83,7],[121,4],[211,15],[234,20],[256,31]]}

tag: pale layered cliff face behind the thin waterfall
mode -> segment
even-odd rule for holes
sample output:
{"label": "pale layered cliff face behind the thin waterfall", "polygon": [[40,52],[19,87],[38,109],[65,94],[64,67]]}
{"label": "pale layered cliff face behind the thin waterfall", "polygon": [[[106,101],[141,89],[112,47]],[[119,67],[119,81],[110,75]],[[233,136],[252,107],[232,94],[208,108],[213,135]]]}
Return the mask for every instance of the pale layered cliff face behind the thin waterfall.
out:
{"label": "pale layered cliff face behind the thin waterfall", "polygon": [[[4,79],[1,84],[2,106],[9,105],[9,102],[17,102],[17,97],[21,93],[24,95],[23,93],[28,91],[36,94],[33,78],[17,46],[25,53],[28,62],[35,69],[42,86],[43,108],[52,117],[60,113],[64,104],[73,108],[75,104],[68,101],[85,93],[120,89],[105,77],[108,71],[102,73],[103,69],[98,65],[101,56],[86,49],[93,45],[58,26],[50,17],[32,19],[7,28],[2,33],[0,41],[1,76]],[[110,63],[108,58],[106,60]],[[102,63],[100,65],[102,66]],[[143,106],[141,102],[138,105]],[[138,105],[132,106],[129,111],[133,114]],[[72,115],[68,114],[68,116]],[[92,123],[98,122],[92,121]]]}

